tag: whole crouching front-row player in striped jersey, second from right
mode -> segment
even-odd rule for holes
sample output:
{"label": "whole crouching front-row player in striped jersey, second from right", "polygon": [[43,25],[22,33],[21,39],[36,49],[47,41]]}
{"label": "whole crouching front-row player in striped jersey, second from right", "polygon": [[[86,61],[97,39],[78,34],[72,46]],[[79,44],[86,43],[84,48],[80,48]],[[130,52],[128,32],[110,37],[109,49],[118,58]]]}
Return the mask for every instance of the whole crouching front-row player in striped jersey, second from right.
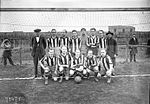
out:
{"label": "whole crouching front-row player in striped jersey, second from right", "polygon": [[100,76],[100,72],[97,66],[97,60],[95,55],[93,55],[93,51],[89,50],[87,53],[87,57],[84,60],[84,67],[86,68],[88,78],[89,76],[94,73],[95,81],[98,81],[98,77]]}

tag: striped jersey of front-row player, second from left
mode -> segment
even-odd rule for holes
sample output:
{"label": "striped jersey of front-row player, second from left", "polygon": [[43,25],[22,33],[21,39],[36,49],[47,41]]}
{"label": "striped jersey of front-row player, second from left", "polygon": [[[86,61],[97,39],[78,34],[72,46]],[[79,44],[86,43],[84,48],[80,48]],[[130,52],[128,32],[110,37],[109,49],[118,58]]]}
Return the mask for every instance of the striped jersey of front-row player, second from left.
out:
{"label": "striped jersey of front-row player, second from left", "polygon": [[61,53],[58,59],[58,65],[70,65],[71,55],[67,53],[65,56]]}

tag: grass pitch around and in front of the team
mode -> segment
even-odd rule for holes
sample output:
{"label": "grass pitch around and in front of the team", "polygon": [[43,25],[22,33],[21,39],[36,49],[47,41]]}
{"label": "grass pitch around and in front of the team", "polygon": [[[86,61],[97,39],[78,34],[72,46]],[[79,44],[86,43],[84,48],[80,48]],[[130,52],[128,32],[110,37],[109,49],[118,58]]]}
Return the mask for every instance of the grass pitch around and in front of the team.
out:
{"label": "grass pitch around and in front of the team", "polygon": [[[142,53],[142,51],[139,51]],[[106,78],[76,84],[72,79],[62,83],[32,79],[34,67],[30,53],[24,54],[22,66],[4,67],[0,64],[0,104],[148,104],[150,59],[138,55],[136,63],[125,63],[117,58],[116,76],[107,84]],[[18,54],[14,62],[19,64]],[[30,60],[28,60],[30,59]],[[123,61],[122,61],[123,60]],[[40,75],[40,71],[39,71]],[[137,76],[124,76],[137,75]],[[146,75],[146,76],[144,76]],[[12,78],[30,78],[16,79]],[[2,79],[10,78],[10,79]]]}

